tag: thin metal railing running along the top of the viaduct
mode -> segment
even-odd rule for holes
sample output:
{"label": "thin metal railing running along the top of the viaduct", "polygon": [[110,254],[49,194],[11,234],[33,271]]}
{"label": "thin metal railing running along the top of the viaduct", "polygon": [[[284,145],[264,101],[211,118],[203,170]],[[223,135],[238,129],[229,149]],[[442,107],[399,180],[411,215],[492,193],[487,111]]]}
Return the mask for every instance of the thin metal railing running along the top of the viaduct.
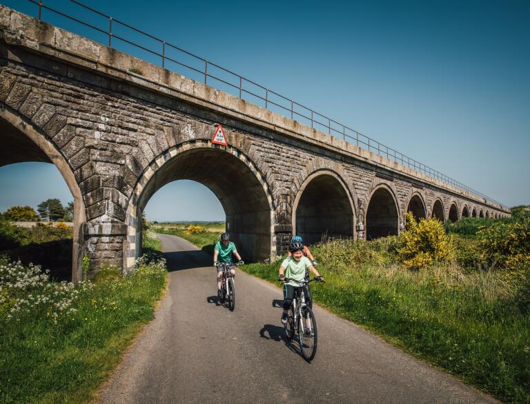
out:
{"label": "thin metal railing running along the top of the viaduct", "polygon": [[[50,12],[58,14],[59,16],[70,21],[75,21],[75,23],[79,23],[82,26],[86,26],[87,28],[99,32],[99,34],[104,36],[104,39],[107,42],[106,44],[109,47],[112,47],[115,41],[121,41],[121,43],[124,43],[133,49],[146,52],[146,54],[150,55],[151,57],[146,59],[152,59],[154,57],[155,60],[153,60],[153,63],[159,63],[162,68],[168,68],[168,64],[173,63],[173,65],[177,65],[180,68],[188,70],[188,73],[195,74],[195,78],[197,78],[197,75],[199,78],[202,77],[201,81],[204,81],[204,83],[207,85],[212,85],[213,87],[219,88],[219,84],[223,84],[226,88],[228,88],[228,92],[232,93],[236,97],[242,99],[244,99],[246,96],[253,97],[253,100],[251,101],[259,100],[257,101],[257,104],[259,105],[260,102],[263,103],[264,107],[268,110],[272,110],[273,112],[279,111],[280,114],[284,114],[286,117],[291,117],[291,119],[311,125],[311,128],[316,128],[322,130],[323,132],[327,132],[334,137],[342,138],[344,141],[353,143],[357,147],[364,148],[365,150],[369,150],[370,152],[384,156],[386,159],[400,163],[405,167],[411,168],[417,172],[430,176],[433,179],[451,185],[454,188],[478,196],[479,198],[485,199],[491,203],[496,203],[507,209],[505,205],[495,201],[495,199],[490,198],[482,192],[473,190],[473,188],[460,183],[460,181],[456,181],[455,179],[442,174],[438,170],[434,170],[428,165],[420,163],[415,159],[411,159],[409,156],[397,152],[397,150],[389,148],[388,146],[371,139],[371,137],[368,137],[357,130],[353,130],[342,123],[326,117],[324,114],[320,114],[320,112],[316,112],[315,110],[297,103],[288,97],[284,97],[282,94],[270,90],[263,85],[255,83],[255,81],[246,79],[245,77],[223,68],[222,66],[188,52],[179,46],[175,46],[164,41],[163,39],[159,39],[151,34],[148,34],[147,32],[130,26],[128,23],[124,23],[123,21],[119,21],[113,17],[110,17],[103,12],[95,10],[95,8],[86,6],[77,0],[70,0],[70,3],[75,4],[76,6],[79,6],[83,10],[91,12],[92,14],[104,18],[106,20],[106,28],[99,28],[95,26],[95,23],[83,21],[78,17],[67,14],[64,10],[61,11],[57,10],[56,8],[52,8],[45,4],[42,0],[27,1],[37,6],[39,21],[43,21],[43,10],[49,10]],[[84,17],[86,20],[86,15],[84,15]],[[126,28],[130,30],[130,36],[125,37],[126,34],[121,34],[119,28]],[[139,35],[144,37],[144,39],[148,39],[151,44],[148,45],[146,43],[138,43],[138,41],[133,39],[135,35]],[[179,54],[179,59],[173,56],[173,54],[170,52],[177,52],[177,54]],[[190,74],[186,74],[186,72],[183,72],[182,74],[184,76],[190,77]]]}

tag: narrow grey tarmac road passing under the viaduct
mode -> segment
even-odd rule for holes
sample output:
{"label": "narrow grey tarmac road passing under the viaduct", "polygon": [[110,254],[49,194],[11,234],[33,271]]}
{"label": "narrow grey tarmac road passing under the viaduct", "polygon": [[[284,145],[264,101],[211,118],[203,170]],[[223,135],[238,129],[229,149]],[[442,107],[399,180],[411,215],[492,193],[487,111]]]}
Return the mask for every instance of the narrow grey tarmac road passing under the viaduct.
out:
{"label": "narrow grey tarmac road passing under the viaduct", "polygon": [[315,307],[317,356],[284,341],[282,290],[242,271],[216,305],[212,258],[159,234],[169,290],[101,390],[104,403],[491,403],[492,398]]}

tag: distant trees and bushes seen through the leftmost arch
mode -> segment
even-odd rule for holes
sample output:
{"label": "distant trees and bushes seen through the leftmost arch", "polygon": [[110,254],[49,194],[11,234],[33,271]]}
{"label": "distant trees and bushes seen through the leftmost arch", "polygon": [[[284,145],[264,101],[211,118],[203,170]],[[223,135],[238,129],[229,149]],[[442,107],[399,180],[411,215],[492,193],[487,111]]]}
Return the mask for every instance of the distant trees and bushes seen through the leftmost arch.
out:
{"label": "distant trees and bushes seen through the leftmost arch", "polygon": [[[38,214],[37,214],[38,212]],[[12,206],[0,213],[0,218],[8,221],[72,221],[74,203],[63,206],[59,199],[46,199],[37,205],[37,212],[31,206]]]}

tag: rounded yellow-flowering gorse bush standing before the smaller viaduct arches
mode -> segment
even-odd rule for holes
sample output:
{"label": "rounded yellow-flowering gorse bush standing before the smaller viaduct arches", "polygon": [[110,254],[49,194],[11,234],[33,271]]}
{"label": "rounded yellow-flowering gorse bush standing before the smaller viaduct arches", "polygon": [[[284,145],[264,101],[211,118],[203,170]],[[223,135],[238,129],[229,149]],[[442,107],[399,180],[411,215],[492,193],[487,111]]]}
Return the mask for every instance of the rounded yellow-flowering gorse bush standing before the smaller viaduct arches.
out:
{"label": "rounded yellow-flowering gorse bush standing before the smaller viaduct arches", "polygon": [[409,268],[420,268],[455,256],[453,238],[445,233],[444,225],[438,219],[414,219],[406,214],[406,231],[400,234],[397,256]]}

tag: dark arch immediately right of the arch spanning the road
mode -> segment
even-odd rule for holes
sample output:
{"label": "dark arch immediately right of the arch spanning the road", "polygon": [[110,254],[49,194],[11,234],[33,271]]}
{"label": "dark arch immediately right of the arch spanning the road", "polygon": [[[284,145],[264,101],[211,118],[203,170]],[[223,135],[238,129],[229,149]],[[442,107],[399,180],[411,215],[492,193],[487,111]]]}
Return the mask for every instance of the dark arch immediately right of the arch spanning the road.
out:
{"label": "dark arch immediately right of the arch spanning the road", "polygon": [[298,189],[293,203],[293,232],[304,243],[322,237],[353,237],[355,205],[346,181],[332,170],[318,170]]}

